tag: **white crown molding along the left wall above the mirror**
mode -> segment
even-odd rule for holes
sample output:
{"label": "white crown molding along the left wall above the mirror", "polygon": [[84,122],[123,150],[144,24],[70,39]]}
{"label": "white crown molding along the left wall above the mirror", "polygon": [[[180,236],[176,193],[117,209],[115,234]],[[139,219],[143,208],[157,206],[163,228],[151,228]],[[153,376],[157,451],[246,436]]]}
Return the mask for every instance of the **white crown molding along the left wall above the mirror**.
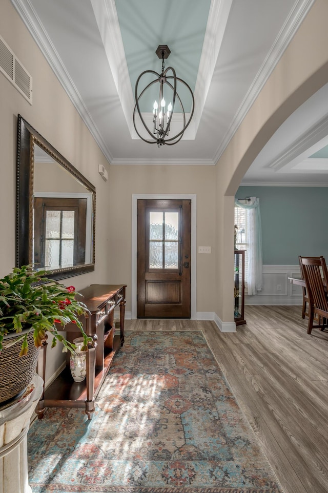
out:
{"label": "white crown molding along the left wall above the mirror", "polygon": [[69,76],[33,6],[29,2],[29,0],[11,0],[11,3],[22,18],[35,43],[45,56],[61,86],[63,86],[65,92],[72,101],[78,114],[85,122],[87,128],[90,130],[101,152],[103,152],[106,159],[110,162],[112,160],[111,153],[106,146],[104,139],[101,137],[92,116],[87,110],[83,99],[81,98],[71,77]]}

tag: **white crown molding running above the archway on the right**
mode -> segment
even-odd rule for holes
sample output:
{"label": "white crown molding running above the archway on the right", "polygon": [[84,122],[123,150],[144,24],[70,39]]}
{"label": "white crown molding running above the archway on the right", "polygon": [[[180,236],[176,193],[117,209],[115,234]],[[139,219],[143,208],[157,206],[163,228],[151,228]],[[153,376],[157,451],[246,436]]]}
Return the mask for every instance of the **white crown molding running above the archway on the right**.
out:
{"label": "white crown molding running above the archway on the right", "polygon": [[285,49],[288,47],[294,34],[298,30],[299,26],[303,22],[314,2],[315,0],[297,0],[297,2],[295,2],[294,7],[288,18],[285,20],[285,23],[282,26],[270,52],[268,53],[260,70],[255,76],[253,84],[251,85],[240,107],[238,108],[230,128],[222,139],[222,142],[220,143],[220,146],[218,147],[215,155],[213,156],[214,162],[217,162],[220,159],[224,150],[227,148],[230,140],[238,130],[238,127],[241,125],[241,122],[244,119],[245,115],[254,104],[255,99],[257,98],[263,86],[272,74],[278,61],[283,55]]}

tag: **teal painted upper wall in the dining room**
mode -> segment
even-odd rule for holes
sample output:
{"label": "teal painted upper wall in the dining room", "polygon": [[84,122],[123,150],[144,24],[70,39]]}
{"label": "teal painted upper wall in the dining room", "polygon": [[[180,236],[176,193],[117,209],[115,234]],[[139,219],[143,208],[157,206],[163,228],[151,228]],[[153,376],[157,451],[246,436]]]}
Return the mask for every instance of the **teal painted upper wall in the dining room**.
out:
{"label": "teal painted upper wall in the dining room", "polygon": [[328,259],[328,189],[239,187],[236,198],[258,197],[263,265],[296,265],[298,256]]}

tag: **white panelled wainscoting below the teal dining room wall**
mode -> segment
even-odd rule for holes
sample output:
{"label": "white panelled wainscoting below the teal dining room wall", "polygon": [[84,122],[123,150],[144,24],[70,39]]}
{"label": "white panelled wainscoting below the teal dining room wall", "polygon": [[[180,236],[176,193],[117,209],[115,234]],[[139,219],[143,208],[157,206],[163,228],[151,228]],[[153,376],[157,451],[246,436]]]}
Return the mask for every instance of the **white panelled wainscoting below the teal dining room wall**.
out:
{"label": "white panelled wainscoting below the teal dining room wall", "polygon": [[292,284],[289,277],[300,277],[299,265],[263,265],[262,290],[248,296],[245,289],[245,304],[301,305],[302,288]]}

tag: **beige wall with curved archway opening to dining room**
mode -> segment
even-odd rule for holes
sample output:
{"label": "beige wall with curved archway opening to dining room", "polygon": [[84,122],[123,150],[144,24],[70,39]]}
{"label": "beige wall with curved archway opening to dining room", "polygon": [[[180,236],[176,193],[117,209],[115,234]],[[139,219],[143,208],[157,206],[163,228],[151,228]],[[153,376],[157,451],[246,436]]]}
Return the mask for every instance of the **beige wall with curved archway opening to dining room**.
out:
{"label": "beige wall with curved archway opening to dining room", "polygon": [[244,173],[283,121],[328,83],[327,18],[327,0],[316,0],[217,163],[214,311],[224,321],[232,320],[234,195]]}

